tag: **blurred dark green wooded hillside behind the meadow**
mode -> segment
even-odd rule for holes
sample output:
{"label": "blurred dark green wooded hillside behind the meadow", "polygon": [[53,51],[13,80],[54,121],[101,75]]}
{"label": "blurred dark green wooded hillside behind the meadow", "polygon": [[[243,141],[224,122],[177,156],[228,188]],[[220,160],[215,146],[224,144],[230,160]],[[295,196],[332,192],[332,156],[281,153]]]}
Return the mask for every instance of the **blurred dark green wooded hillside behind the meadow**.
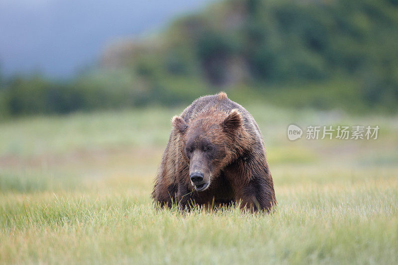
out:
{"label": "blurred dark green wooded hillside behind the meadow", "polygon": [[115,43],[74,80],[3,78],[0,111],[175,105],[226,90],[241,103],[396,112],[397,43],[397,0],[224,0]]}

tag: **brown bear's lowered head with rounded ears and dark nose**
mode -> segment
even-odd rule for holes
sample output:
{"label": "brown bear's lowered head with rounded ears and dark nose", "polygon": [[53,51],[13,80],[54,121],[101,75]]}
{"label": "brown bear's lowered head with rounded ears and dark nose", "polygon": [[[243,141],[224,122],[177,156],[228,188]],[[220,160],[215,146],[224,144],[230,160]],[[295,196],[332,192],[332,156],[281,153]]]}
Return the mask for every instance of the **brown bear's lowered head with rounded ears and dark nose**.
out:
{"label": "brown bear's lowered head with rounded ears and dark nose", "polygon": [[173,117],[173,126],[180,135],[180,150],[189,164],[189,179],[198,191],[207,189],[221,170],[241,150],[243,118],[237,109],[229,113],[205,112],[185,122]]}

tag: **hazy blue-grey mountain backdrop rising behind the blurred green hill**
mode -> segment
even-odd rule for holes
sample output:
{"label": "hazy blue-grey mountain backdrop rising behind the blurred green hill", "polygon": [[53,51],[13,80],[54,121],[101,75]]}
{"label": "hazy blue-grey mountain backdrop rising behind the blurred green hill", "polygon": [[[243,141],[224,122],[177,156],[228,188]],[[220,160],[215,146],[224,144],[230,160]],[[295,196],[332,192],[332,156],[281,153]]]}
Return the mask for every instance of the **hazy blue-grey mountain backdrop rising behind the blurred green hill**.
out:
{"label": "hazy blue-grey mountain backdrop rising behind the blurred green hill", "polygon": [[68,77],[114,39],[162,28],[211,0],[1,0],[0,70]]}

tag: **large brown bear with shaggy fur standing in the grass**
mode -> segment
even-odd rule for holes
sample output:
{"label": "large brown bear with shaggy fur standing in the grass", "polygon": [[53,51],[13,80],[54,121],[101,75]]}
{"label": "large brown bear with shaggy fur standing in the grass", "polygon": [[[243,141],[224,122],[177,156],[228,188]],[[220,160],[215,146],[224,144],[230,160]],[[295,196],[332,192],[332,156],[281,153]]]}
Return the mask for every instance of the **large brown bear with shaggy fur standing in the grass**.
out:
{"label": "large brown bear with shaggy fur standing in the grass", "polygon": [[275,209],[264,141],[252,115],[224,92],[202,96],[180,116],[162,157],[152,197],[169,206],[240,203]]}

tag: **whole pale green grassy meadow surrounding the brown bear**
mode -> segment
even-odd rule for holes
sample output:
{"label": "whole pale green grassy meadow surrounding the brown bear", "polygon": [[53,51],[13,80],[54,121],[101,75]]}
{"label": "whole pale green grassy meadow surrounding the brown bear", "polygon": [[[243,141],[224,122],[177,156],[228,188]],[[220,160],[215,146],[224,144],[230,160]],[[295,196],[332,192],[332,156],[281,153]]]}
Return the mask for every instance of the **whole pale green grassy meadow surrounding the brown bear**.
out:
{"label": "whole pale green grassy meadow surrounding the brown bear", "polygon": [[[0,263],[398,264],[398,117],[247,106],[279,202],[156,211],[152,182],[177,109],[0,124]],[[379,125],[377,140],[290,142],[289,124]]]}

